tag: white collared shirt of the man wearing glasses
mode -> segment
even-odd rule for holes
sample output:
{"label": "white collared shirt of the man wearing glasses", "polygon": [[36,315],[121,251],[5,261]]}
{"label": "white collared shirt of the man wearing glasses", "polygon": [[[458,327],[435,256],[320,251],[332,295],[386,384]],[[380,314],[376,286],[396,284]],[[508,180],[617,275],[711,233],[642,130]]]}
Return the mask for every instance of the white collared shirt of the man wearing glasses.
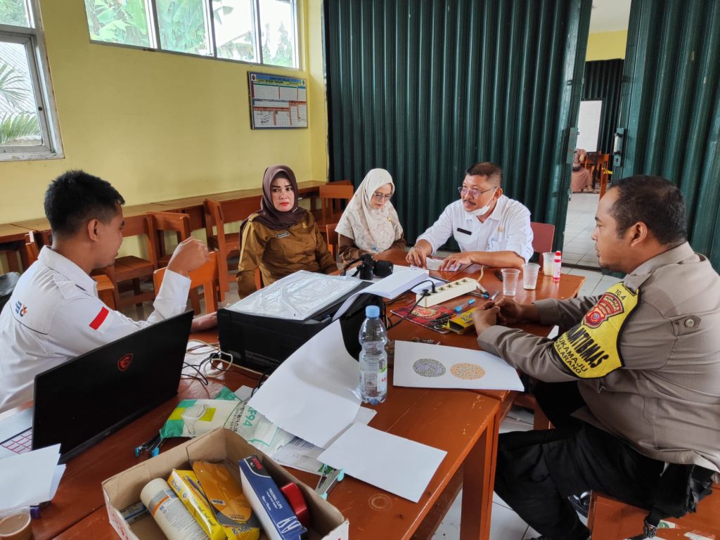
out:
{"label": "white collared shirt of the man wearing glasses", "polygon": [[450,235],[457,241],[460,251],[514,251],[525,262],[533,255],[530,210],[505,195],[498,197],[492,214],[484,223],[465,212],[462,199],[448,204],[418,240],[430,243],[435,253]]}

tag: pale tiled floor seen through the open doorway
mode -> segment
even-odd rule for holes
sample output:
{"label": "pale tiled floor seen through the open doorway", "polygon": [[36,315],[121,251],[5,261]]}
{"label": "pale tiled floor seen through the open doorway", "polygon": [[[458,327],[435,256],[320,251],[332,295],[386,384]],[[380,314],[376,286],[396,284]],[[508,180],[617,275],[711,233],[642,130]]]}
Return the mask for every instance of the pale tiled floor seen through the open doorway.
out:
{"label": "pale tiled floor seen through the open doorway", "polygon": [[590,239],[595,228],[595,210],[598,208],[599,197],[595,193],[572,194],[572,199],[567,204],[563,264],[600,268],[595,243]]}

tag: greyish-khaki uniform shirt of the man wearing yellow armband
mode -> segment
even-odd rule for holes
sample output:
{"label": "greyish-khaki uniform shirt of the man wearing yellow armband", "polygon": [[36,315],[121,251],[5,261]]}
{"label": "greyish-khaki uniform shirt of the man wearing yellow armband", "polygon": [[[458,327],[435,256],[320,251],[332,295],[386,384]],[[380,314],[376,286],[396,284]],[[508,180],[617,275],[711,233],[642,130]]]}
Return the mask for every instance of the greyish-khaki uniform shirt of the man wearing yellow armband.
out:
{"label": "greyish-khaki uniform shirt of the man wearing yellow armband", "polygon": [[[688,243],[625,276],[639,303],[618,339],[624,365],[596,379],[575,377],[554,342],[495,326],[480,347],[546,382],[578,381],[587,408],[575,413],[663,462],[720,471],[720,276]],[[536,302],[541,322],[561,332],[599,297]]]}

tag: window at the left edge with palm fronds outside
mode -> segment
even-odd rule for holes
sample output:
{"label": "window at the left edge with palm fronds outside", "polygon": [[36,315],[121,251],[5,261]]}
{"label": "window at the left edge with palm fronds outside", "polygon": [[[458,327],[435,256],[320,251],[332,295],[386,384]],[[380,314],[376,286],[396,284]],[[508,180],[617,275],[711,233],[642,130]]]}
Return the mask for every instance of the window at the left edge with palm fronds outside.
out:
{"label": "window at the left edge with palm fronds outside", "polygon": [[0,160],[61,155],[35,0],[0,0]]}

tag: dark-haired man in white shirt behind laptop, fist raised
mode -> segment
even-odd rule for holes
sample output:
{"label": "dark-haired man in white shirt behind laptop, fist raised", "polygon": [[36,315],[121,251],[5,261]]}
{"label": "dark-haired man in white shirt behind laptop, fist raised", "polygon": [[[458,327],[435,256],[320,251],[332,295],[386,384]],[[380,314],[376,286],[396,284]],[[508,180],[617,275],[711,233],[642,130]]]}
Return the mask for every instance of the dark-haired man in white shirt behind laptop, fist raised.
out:
{"label": "dark-haired man in white shirt behind laptop, fist raised", "polygon": [[[125,200],[107,181],[83,171],[58,176],[45,192],[53,246],[20,276],[0,313],[0,412],[32,400],[35,375],[111,341],[185,312],[189,271],[208,259],[195,238],[174,251],[147,321],[110,310],[90,273],[114,263],[122,243]],[[193,321],[212,328],[215,314]]]}

